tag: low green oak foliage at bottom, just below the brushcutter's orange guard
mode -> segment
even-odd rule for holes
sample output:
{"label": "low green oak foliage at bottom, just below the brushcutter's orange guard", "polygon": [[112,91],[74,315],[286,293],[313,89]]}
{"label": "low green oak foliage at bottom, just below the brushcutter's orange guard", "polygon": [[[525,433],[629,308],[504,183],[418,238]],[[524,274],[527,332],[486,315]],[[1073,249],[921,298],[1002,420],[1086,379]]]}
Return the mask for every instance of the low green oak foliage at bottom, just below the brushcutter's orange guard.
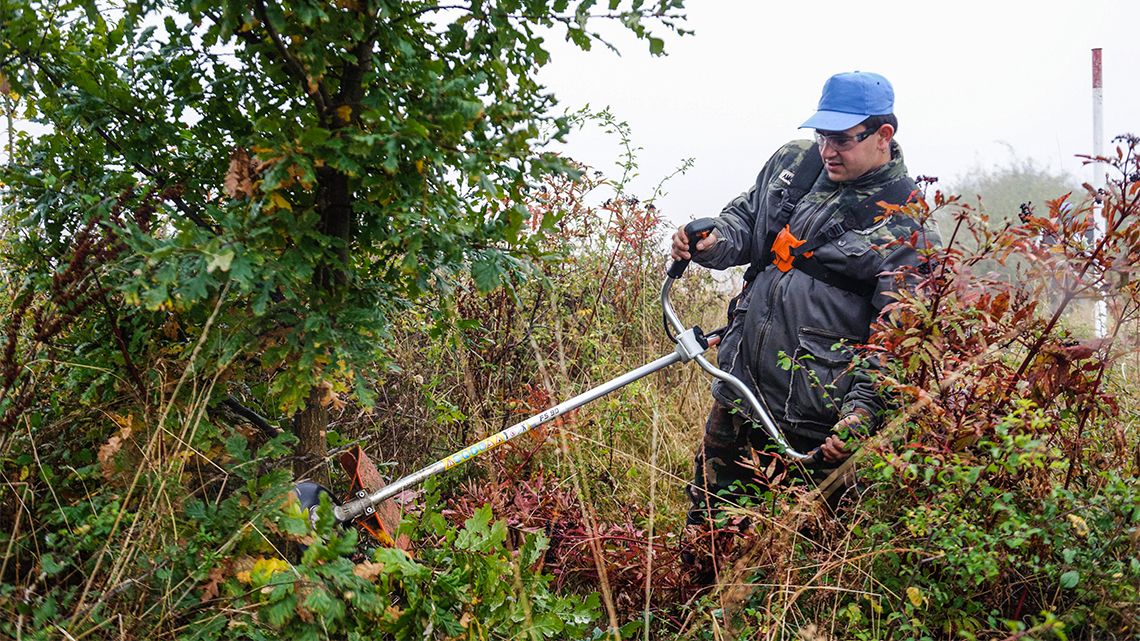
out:
{"label": "low green oak foliage at bottom, just below the brushcutter's orange guard", "polygon": [[[432,495],[434,496],[434,495]],[[360,562],[355,529],[333,526],[318,508],[316,530],[295,503],[277,514],[283,532],[306,533],[296,565],[261,559],[225,579],[227,607],[201,617],[186,639],[580,639],[598,617],[597,595],[557,595],[538,565],[538,534],[508,544],[503,521],[479,510],[451,526],[430,498],[401,532],[420,542],[414,555],[378,547]],[[249,565],[249,563],[247,563]]]}

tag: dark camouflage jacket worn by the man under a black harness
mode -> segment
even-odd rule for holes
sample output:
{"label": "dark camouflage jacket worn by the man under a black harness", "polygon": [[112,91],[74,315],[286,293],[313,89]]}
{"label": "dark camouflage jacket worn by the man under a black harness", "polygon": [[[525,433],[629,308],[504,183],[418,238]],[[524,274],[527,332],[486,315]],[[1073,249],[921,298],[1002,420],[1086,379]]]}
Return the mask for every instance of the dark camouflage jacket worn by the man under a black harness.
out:
{"label": "dark camouflage jacket worn by the man under a black harness", "polygon": [[[756,184],[716,219],[717,244],[693,259],[711,269],[726,269],[767,257],[783,189],[811,146],[797,140],[776,152]],[[812,238],[852,216],[883,185],[905,176],[896,143],[891,143],[887,164],[850,182],[833,182],[822,171],[796,205],[788,221],[790,230],[797,238]],[[866,284],[872,291],[868,295],[829,285],[796,268],[781,271],[771,263],[740,295],[717,360],[720,368],[758,392],[783,430],[822,441],[840,417],[864,412],[870,419],[865,427],[878,427],[883,400],[870,372],[850,367],[852,348],[866,341],[871,323],[890,302],[888,294],[898,286],[897,270],[920,262],[913,244],[896,242],[911,238],[917,229],[919,225],[907,216],[877,217],[870,227],[846,232],[815,250],[814,260]],[[919,246],[937,244],[936,230],[921,230]],[[712,395],[730,406],[740,403],[719,381]],[[750,413],[746,405],[741,407]]]}

